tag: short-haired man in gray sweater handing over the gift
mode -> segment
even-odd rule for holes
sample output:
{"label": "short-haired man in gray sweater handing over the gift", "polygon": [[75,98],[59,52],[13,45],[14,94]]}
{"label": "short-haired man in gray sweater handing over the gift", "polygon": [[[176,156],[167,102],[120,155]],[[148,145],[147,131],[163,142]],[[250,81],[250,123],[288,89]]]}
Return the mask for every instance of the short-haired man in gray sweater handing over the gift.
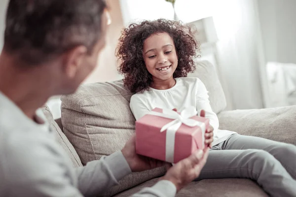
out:
{"label": "short-haired man in gray sweater handing over the gift", "polygon": [[[0,197],[96,196],[132,171],[164,165],[139,157],[132,136],[121,151],[74,169],[38,110],[95,68],[107,24],[104,0],[10,0],[0,54]],[[134,196],[175,196],[207,155],[194,153]]]}

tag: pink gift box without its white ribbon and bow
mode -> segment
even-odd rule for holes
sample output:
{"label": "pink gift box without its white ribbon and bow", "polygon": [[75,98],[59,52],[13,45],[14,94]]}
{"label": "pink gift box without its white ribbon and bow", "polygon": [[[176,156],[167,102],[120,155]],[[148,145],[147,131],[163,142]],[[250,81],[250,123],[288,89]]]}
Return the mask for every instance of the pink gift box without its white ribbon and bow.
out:
{"label": "pink gift box without its white ribbon and bow", "polygon": [[[152,111],[162,113],[162,109],[155,108]],[[193,116],[198,122],[205,123],[209,128],[209,119]],[[161,128],[172,122],[172,119],[147,114],[136,121],[136,152],[150,158],[166,161],[166,132],[160,132]],[[204,148],[204,133],[199,126],[189,127],[182,124],[175,133],[174,159],[177,163],[190,156],[197,149]],[[170,161],[167,161],[170,162]]]}

